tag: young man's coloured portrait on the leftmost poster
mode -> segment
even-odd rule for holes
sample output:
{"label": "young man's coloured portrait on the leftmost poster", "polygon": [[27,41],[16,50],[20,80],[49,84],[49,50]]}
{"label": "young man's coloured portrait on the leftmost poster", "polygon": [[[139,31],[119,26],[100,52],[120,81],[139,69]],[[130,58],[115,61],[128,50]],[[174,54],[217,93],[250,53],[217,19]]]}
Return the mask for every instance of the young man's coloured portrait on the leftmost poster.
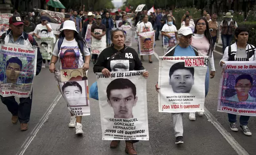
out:
{"label": "young man's coloured portrait on the leftmost poster", "polygon": [[6,62],[6,81],[4,83],[16,83],[22,69],[22,61],[18,57],[12,57]]}

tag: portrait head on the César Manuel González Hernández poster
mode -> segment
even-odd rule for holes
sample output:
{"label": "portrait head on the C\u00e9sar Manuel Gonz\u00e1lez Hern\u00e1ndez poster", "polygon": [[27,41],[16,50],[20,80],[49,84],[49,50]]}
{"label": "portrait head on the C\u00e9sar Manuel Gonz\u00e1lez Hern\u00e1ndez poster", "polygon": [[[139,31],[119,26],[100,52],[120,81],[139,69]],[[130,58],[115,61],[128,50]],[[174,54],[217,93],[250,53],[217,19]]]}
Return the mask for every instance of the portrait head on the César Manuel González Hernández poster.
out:
{"label": "portrait head on the C\u00e9sar Manuel Gonz\u00e1lez Hern\u00e1ndez poster", "polygon": [[132,108],[136,106],[136,86],[129,79],[114,79],[107,86],[107,102],[113,108],[114,118],[133,118]]}

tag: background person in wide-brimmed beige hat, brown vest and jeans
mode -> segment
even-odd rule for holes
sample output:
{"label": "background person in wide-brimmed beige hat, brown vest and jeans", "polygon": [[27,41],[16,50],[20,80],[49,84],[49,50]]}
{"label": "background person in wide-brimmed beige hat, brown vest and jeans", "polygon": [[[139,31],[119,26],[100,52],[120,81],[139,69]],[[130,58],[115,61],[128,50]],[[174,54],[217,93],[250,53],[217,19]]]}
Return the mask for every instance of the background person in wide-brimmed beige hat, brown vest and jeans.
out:
{"label": "background person in wide-brimmed beige hat, brown vest and jeans", "polygon": [[220,30],[221,30],[221,40],[222,40],[222,52],[224,53],[227,46],[230,46],[233,34],[237,28],[237,22],[232,20],[233,15],[230,12],[227,12],[224,16],[224,20],[221,21]]}

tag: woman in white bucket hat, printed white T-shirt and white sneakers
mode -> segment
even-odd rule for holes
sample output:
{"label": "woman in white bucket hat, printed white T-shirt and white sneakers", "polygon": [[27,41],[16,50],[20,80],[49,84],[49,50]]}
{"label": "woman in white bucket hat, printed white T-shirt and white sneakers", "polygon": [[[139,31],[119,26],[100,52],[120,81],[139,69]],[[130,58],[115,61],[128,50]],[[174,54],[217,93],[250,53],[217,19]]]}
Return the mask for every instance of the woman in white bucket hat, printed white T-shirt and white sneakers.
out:
{"label": "woman in white bucket hat, printed white T-shirt and white sneakers", "polygon": [[[60,69],[76,69],[83,68],[89,69],[90,52],[87,48],[85,40],[77,32],[74,21],[65,21],[63,28],[60,30],[60,39],[52,52],[52,59],[50,62],[49,70],[54,73],[56,70],[55,63],[60,58]],[[69,50],[69,52],[66,52]],[[73,53],[71,51],[74,51]],[[72,56],[65,55],[65,53],[72,53]],[[66,59],[66,57],[69,57]],[[69,107],[69,105],[68,105]],[[69,127],[76,127],[76,134],[83,134],[82,130],[82,116],[76,116],[72,112]]]}

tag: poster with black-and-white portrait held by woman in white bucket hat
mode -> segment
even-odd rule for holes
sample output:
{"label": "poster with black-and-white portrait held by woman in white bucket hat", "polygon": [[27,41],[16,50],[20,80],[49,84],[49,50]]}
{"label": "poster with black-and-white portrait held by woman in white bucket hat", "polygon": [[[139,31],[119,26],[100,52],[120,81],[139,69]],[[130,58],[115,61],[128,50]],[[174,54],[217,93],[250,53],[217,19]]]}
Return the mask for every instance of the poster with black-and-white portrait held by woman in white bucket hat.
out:
{"label": "poster with black-and-white portrait held by woman in white bucket hat", "polygon": [[54,75],[68,110],[76,116],[90,115],[87,71],[82,68],[56,70]]}

